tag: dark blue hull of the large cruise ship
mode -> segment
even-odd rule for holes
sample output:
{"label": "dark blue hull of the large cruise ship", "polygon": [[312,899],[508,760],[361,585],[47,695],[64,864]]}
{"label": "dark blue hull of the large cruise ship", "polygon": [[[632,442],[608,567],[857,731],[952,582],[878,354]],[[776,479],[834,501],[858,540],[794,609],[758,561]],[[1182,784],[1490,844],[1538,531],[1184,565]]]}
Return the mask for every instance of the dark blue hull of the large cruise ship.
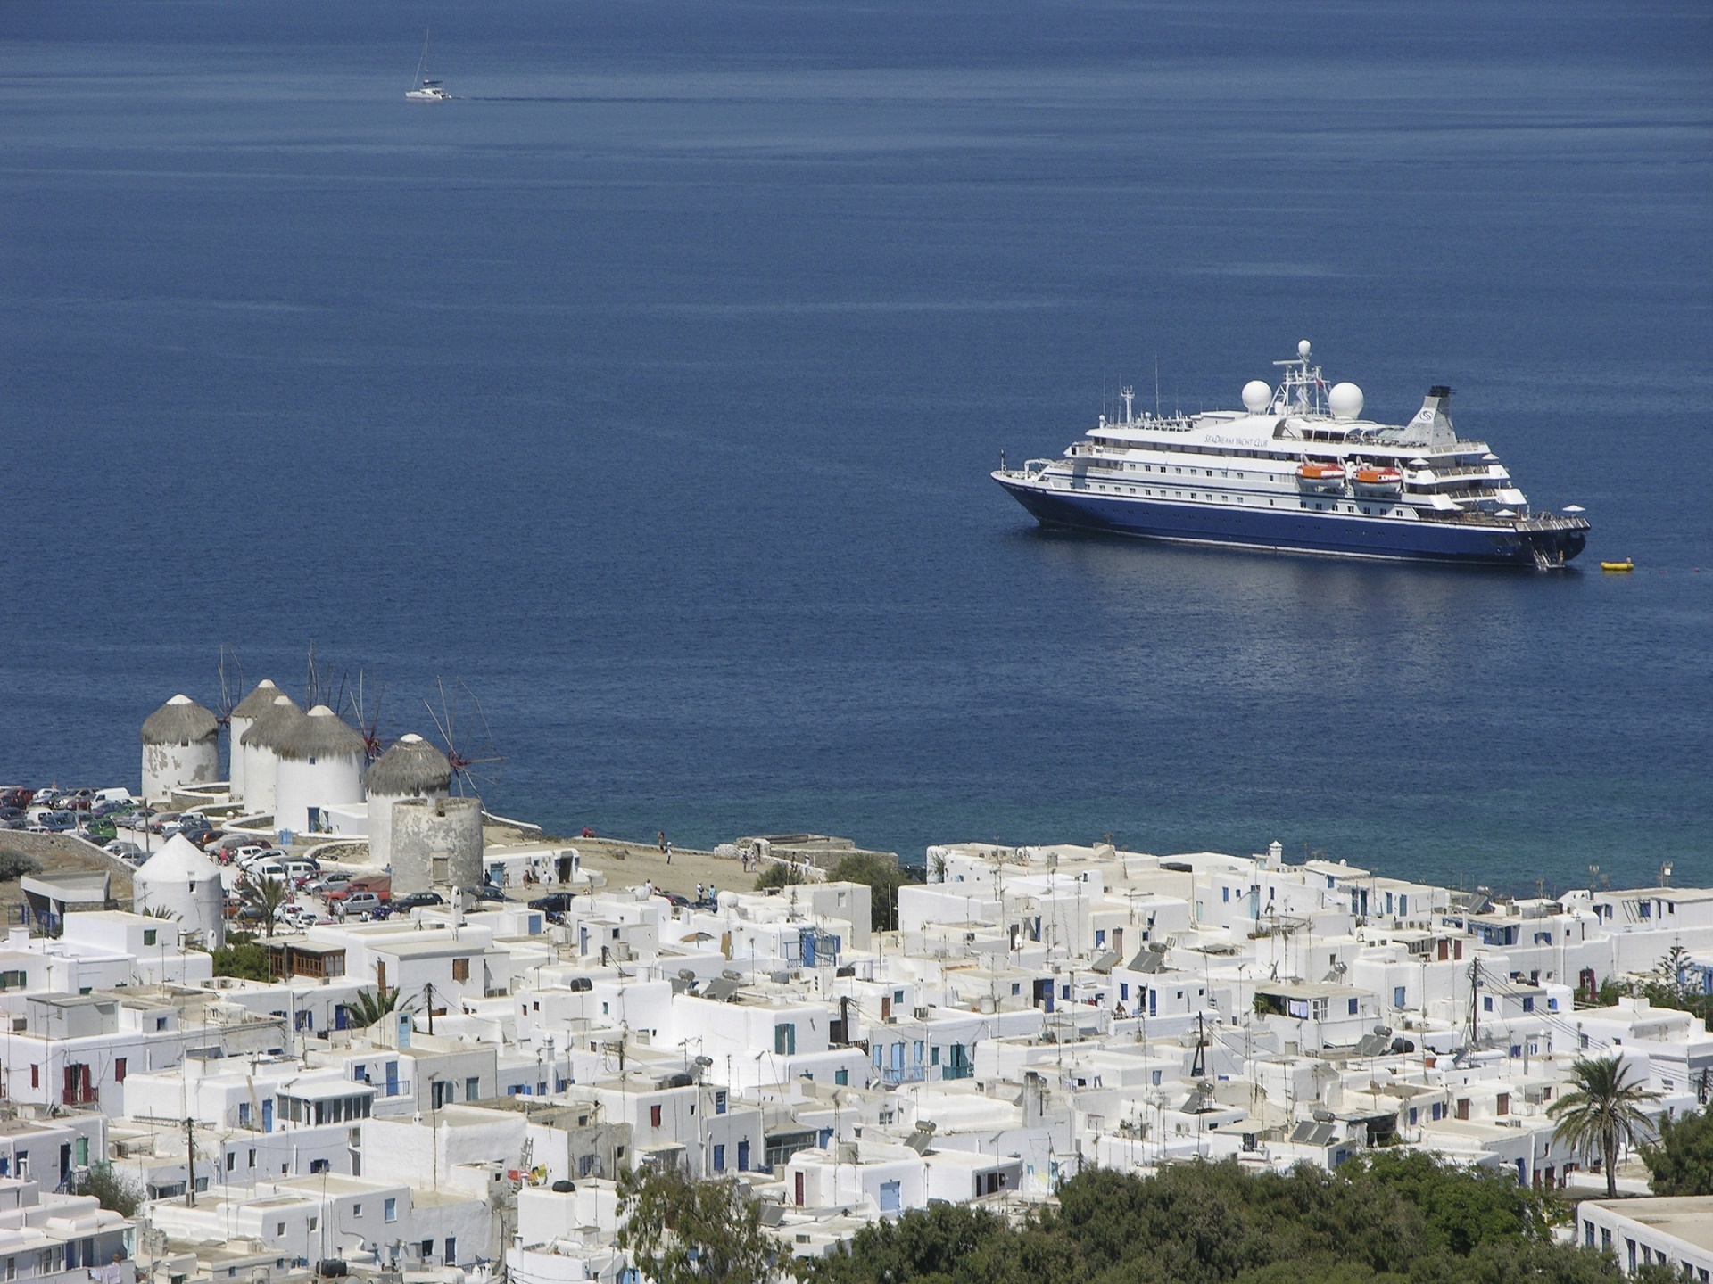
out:
{"label": "dark blue hull of the large cruise ship", "polygon": [[1259,512],[1235,505],[1043,491],[1004,478],[999,478],[999,484],[1042,526],[1273,553],[1537,567],[1542,558],[1557,565],[1569,562],[1583,551],[1586,541],[1583,529]]}

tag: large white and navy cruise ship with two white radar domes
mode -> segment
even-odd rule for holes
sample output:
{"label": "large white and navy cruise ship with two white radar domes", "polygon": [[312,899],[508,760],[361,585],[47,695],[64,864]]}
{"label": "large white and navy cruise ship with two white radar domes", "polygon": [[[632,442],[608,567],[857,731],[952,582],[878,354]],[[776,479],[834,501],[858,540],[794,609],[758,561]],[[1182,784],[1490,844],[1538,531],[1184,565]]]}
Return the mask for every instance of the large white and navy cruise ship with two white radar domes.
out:
{"label": "large white and navy cruise ship with two white radar domes", "polygon": [[1362,418],[1355,383],[1328,389],[1309,341],[1244,387],[1242,411],[1100,416],[1062,459],[994,479],[1043,526],[1280,553],[1562,567],[1581,508],[1533,512],[1485,442],[1459,438],[1451,389],[1406,425]]}

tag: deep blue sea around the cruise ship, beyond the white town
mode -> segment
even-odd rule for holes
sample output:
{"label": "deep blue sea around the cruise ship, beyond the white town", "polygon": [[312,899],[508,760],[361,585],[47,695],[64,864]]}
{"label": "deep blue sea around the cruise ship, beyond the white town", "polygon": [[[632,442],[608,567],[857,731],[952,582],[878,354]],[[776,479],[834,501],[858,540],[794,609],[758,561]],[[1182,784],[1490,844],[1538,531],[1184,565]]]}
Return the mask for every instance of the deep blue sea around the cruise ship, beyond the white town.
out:
{"label": "deep blue sea around the cruise ship, beyond the white town", "polygon": [[[1583,560],[987,476],[1304,337]],[[0,353],[5,782],[313,644],[562,830],[1713,883],[1704,0],[12,0]]]}

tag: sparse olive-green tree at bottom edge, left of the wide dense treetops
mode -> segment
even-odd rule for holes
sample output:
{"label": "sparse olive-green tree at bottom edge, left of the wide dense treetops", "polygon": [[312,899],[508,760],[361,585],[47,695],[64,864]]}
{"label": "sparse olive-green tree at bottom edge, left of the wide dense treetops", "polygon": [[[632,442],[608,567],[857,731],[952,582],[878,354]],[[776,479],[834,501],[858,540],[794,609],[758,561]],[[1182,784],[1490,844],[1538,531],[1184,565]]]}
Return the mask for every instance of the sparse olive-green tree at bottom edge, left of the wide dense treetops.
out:
{"label": "sparse olive-green tree at bottom edge, left of the wide dense treetops", "polygon": [[629,1217],[618,1248],[653,1284],[762,1284],[773,1277],[761,1209],[735,1180],[630,1171],[618,1181],[618,1200]]}

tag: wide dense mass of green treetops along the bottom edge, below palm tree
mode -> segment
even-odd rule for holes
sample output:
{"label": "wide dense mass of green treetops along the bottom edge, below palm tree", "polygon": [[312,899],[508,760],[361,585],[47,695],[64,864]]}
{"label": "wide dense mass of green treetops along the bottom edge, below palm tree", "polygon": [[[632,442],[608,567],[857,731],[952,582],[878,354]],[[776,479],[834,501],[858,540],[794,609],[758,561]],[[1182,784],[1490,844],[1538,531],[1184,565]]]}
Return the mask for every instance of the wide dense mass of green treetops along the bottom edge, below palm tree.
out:
{"label": "wide dense mass of green treetops along the bottom edge, below palm tree", "polygon": [[[1328,1173],[1086,1169],[1011,1224],[930,1207],[790,1262],[809,1284],[1607,1284],[1610,1253],[1552,1239],[1507,1173],[1386,1152]],[[1663,1284],[1656,1274],[1648,1284]]]}

